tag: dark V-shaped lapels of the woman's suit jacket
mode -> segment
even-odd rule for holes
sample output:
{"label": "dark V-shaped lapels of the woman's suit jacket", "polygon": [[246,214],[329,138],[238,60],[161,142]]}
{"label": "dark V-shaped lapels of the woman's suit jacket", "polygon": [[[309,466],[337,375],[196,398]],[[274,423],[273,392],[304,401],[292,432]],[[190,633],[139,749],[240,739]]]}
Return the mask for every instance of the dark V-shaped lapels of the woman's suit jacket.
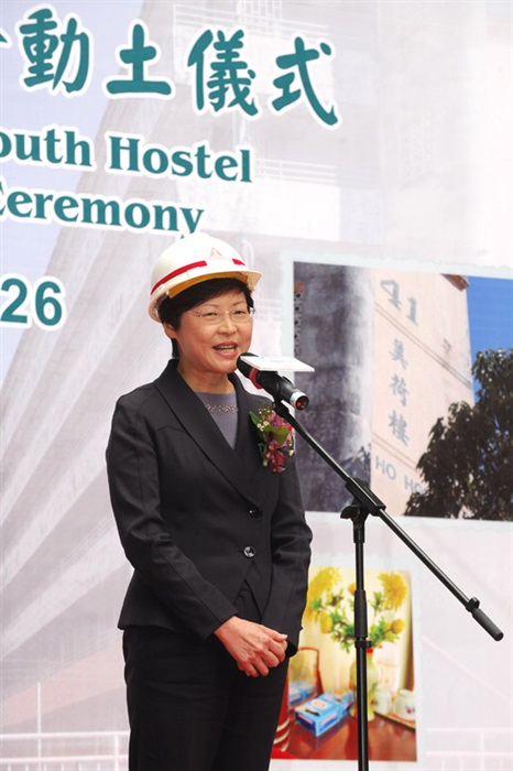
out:
{"label": "dark V-shaped lapels of the woman's suit jacket", "polygon": [[253,481],[253,477],[258,475],[260,456],[256,450],[256,438],[250,436],[250,402],[239,378],[232,376],[230,380],[236,387],[239,404],[234,450],[227,442],[219,441],[219,428],[198,397],[178,374],[175,361],[170,361],[155,381],[155,386],[184,431],[196,442],[208,459],[244,498],[260,504],[262,490]]}

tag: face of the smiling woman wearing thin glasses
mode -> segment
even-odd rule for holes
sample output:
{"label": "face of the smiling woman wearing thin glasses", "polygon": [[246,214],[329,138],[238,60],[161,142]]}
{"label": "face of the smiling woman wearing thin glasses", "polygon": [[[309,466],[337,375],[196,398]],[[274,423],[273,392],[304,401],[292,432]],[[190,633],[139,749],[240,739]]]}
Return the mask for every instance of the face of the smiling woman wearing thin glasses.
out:
{"label": "face of the smiling woman wearing thin glasses", "polygon": [[[176,340],[179,349],[178,371],[195,390],[201,390],[201,383],[209,380],[226,380],[236,371],[238,357],[250,347],[253,323],[250,319],[238,324],[227,312],[247,307],[243,292],[234,290],[186,311],[177,329],[164,324],[165,334]],[[198,315],[212,312],[220,314],[216,324]]]}

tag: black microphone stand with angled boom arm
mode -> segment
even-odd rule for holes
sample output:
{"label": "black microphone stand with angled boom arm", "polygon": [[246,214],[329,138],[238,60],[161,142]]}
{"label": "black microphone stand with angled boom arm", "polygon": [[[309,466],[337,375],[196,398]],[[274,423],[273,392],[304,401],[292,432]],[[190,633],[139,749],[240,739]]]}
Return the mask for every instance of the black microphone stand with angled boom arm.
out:
{"label": "black microphone stand with angled boom arm", "polygon": [[343,509],[340,517],[352,520],[357,589],[354,591],[354,648],[357,663],[357,723],[358,723],[358,769],[369,771],[369,727],[367,716],[367,656],[370,648],[368,639],[368,610],[363,577],[363,544],[365,542],[365,520],[369,514],[380,517],[383,522],[403,541],[408,549],[423,562],[435,576],[463,605],[473,619],[495,640],[502,640],[504,633],[479,607],[479,599],[470,599],[454,584],[448,576],[422,551],[410,535],[385,512],[385,504],[375,496],[368,484],[351,477],[334,458],[316,442],[312,434],[296,420],[285,404],[277,399],[274,402],[275,412],[286,420],[303,438],[326,460],[346,482],[347,490],[352,495],[352,503]]}

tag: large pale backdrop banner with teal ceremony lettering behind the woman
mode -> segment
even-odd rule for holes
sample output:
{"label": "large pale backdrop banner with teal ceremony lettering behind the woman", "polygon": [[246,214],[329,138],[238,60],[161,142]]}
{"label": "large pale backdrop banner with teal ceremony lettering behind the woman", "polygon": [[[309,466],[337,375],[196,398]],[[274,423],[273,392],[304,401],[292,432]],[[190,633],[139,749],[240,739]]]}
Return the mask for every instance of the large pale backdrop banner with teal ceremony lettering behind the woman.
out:
{"label": "large pale backdrop banner with teal ceremony lettering behind the woman", "polygon": [[[171,356],[153,264],[198,231],[263,274],[253,352],[314,368],[285,373],[298,419],[505,632],[368,519],[373,769],[511,769],[507,460],[461,506],[478,439],[418,466],[456,405],[513,403],[510,0],[1,0],[0,63],[0,771],[127,769],[105,448]],[[353,769],[351,498],[296,453],[314,553],[272,769]]]}

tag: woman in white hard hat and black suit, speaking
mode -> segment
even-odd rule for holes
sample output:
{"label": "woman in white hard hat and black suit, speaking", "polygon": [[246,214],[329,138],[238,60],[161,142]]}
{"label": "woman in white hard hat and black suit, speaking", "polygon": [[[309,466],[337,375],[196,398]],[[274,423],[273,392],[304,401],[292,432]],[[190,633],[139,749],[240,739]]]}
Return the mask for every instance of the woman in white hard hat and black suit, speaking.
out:
{"label": "woman in white hard hat and black suit, speaking", "polygon": [[260,273],[199,234],[166,249],[153,279],[150,314],[173,358],[119,400],[107,449],[134,568],[119,621],[129,769],[263,771],[297,650],[310,531],[294,458],[281,473],[264,466],[250,413],[269,401],[234,374]]}

